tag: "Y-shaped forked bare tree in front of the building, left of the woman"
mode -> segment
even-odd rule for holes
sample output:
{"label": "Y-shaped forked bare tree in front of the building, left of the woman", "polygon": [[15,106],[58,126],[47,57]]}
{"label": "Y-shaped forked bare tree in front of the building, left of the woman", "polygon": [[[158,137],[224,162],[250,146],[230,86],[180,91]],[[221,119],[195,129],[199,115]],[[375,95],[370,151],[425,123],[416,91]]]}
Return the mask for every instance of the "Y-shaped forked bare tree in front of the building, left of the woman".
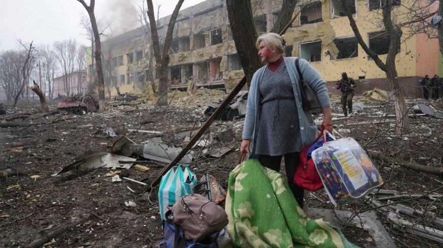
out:
{"label": "Y-shaped forked bare tree in front of the building, left of the woman", "polygon": [[152,0],[147,0],[147,16],[149,17],[149,24],[151,26],[151,37],[153,42],[154,56],[156,61],[156,70],[159,78],[159,87],[157,92],[157,105],[166,106],[168,100],[168,78],[166,75],[166,69],[169,64],[169,48],[172,42],[172,32],[174,30],[175,21],[179,15],[179,10],[182,7],[184,0],[179,0],[172,12],[171,19],[169,20],[168,29],[166,32],[166,38],[164,42],[163,54],[160,54],[160,42],[157,33],[157,25],[154,16],[154,7]]}

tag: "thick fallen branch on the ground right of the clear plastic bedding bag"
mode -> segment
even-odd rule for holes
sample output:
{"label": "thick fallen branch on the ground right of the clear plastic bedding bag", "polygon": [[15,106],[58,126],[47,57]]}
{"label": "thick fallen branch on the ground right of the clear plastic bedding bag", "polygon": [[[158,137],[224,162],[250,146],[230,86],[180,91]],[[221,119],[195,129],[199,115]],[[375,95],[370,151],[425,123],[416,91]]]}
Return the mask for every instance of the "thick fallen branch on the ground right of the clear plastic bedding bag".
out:
{"label": "thick fallen branch on the ground right of the clear plastic bedding bag", "polygon": [[424,172],[424,173],[428,173],[428,174],[432,174],[432,175],[437,175],[440,178],[443,178],[443,168],[424,166],[424,165],[421,165],[421,164],[418,164],[418,163],[412,162],[412,161],[406,162],[406,161],[399,160],[399,159],[396,159],[393,157],[385,156],[384,154],[382,154],[381,152],[378,152],[378,151],[368,151],[368,154],[374,160],[379,160],[379,161],[390,163],[390,164],[391,163],[397,164],[403,168],[407,168],[407,169],[411,169],[411,170],[419,171],[419,172]]}

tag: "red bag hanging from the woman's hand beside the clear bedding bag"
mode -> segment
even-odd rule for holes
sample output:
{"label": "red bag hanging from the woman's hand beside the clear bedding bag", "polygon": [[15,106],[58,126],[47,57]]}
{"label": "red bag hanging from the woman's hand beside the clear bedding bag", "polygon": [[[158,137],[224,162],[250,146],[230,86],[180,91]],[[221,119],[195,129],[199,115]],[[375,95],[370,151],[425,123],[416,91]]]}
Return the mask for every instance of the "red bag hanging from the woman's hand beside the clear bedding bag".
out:
{"label": "red bag hanging from the woman's hand beside the clear bedding bag", "polygon": [[[312,150],[322,146],[323,143],[327,141],[328,135],[334,139],[331,133],[329,133],[327,130],[323,130],[315,139],[314,143],[306,146],[300,152],[300,163],[297,166],[296,173],[294,174],[294,183],[305,190],[317,191],[323,188],[320,175],[318,175],[314,161],[311,158],[311,152]],[[323,139],[320,139],[321,137],[323,137]]]}

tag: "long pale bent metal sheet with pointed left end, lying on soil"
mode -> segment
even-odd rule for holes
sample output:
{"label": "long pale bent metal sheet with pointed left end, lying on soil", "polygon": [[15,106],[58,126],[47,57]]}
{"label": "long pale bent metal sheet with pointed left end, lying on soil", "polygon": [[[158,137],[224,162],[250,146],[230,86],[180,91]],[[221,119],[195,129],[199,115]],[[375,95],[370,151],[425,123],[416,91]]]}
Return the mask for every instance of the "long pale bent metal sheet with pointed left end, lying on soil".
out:
{"label": "long pale bent metal sheet with pointed left end, lying on soil", "polygon": [[80,170],[85,168],[123,168],[129,169],[132,164],[120,164],[119,160],[126,161],[136,161],[137,159],[111,154],[107,152],[98,152],[94,153],[90,156],[86,156],[81,160],[77,160],[74,163],[63,167],[63,169],[57,173],[52,174],[52,176],[56,176],[58,174],[70,171],[70,170]]}

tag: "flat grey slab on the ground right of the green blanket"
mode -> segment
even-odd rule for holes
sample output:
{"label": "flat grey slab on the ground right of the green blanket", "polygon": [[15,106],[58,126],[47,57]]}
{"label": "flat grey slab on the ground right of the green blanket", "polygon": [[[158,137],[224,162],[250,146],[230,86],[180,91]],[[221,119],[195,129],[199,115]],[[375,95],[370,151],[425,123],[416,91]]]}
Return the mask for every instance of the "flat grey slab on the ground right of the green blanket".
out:
{"label": "flat grey slab on the ground right of the green blanket", "polygon": [[[331,223],[332,226],[343,228],[343,225],[337,220],[334,211],[331,209],[322,208],[310,208],[304,209],[306,215],[311,219],[323,219]],[[352,215],[351,211],[335,210],[338,218],[342,222],[346,222],[347,218]],[[385,247],[396,247],[394,241],[392,241],[386,229],[381,225],[380,221],[377,219],[377,215],[374,211],[367,211],[359,214],[360,218],[354,218],[349,225],[363,227],[374,239],[375,247],[385,248]],[[361,221],[360,221],[361,220]]]}

